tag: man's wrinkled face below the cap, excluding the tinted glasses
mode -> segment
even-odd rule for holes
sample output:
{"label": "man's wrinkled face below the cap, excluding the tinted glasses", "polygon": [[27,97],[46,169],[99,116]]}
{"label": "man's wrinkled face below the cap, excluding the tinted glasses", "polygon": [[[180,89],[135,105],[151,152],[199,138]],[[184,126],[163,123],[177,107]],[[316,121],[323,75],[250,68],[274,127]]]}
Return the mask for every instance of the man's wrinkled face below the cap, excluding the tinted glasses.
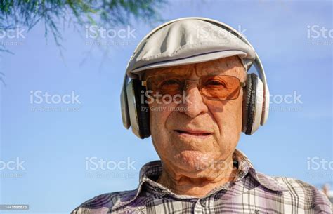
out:
{"label": "man's wrinkled face below the cap, excluding the tinted glasses", "polygon": [[[237,56],[192,65],[154,69],[152,75],[177,74],[199,79],[207,74],[225,74],[245,81]],[[217,163],[229,160],[242,130],[242,95],[235,100],[207,100],[196,83],[188,83],[187,102],[152,102],[152,142],[167,170],[190,178],[206,176]]]}

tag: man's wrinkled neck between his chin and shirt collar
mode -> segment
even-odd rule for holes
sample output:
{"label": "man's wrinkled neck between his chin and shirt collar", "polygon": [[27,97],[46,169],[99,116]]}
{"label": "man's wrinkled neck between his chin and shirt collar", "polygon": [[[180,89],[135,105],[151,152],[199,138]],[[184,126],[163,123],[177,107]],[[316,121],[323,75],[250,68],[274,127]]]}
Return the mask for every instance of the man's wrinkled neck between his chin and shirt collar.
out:
{"label": "man's wrinkled neck between his chin and shirt collar", "polygon": [[226,170],[207,169],[200,176],[192,178],[182,174],[170,173],[169,170],[163,167],[162,175],[159,176],[157,182],[175,194],[202,198],[212,189],[233,181],[236,174],[237,168],[227,168]]}

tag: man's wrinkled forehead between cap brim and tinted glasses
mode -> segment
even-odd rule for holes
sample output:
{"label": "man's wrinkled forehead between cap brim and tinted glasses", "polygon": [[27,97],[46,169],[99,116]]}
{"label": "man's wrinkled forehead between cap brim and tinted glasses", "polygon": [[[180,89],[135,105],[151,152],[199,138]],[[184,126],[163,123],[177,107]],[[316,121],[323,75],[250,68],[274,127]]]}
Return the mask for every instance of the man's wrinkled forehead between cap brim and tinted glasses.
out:
{"label": "man's wrinkled forehead between cap brim and tinted glasses", "polygon": [[148,76],[159,74],[177,74],[185,76],[186,78],[194,78],[195,76],[226,74],[236,76],[240,80],[244,80],[246,76],[245,69],[242,65],[240,58],[231,56],[228,58],[221,58],[218,60],[211,60],[208,62],[200,62],[190,65],[179,65],[174,67],[162,67],[151,69],[145,72],[143,79]]}

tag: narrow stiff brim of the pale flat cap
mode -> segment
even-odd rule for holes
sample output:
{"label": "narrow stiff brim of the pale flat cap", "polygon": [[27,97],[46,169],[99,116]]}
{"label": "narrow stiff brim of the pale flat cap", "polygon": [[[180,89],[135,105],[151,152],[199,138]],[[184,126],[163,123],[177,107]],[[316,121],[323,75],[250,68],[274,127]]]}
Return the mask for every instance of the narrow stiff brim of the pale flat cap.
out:
{"label": "narrow stiff brim of the pale flat cap", "polygon": [[240,58],[246,57],[247,53],[244,51],[237,51],[237,50],[230,50],[230,51],[216,51],[213,53],[204,53],[200,55],[194,55],[187,58],[181,58],[176,60],[168,60],[168,61],[162,61],[162,62],[155,62],[150,65],[145,65],[143,67],[138,67],[137,69],[134,69],[133,71],[128,71],[128,75],[133,78],[136,76],[133,76],[133,74],[141,76],[143,71],[148,69],[154,69],[159,67],[171,67],[176,65],[188,65],[193,63],[199,63],[199,62],[207,62],[210,60],[217,60],[219,58],[226,58],[232,55],[240,55]]}

